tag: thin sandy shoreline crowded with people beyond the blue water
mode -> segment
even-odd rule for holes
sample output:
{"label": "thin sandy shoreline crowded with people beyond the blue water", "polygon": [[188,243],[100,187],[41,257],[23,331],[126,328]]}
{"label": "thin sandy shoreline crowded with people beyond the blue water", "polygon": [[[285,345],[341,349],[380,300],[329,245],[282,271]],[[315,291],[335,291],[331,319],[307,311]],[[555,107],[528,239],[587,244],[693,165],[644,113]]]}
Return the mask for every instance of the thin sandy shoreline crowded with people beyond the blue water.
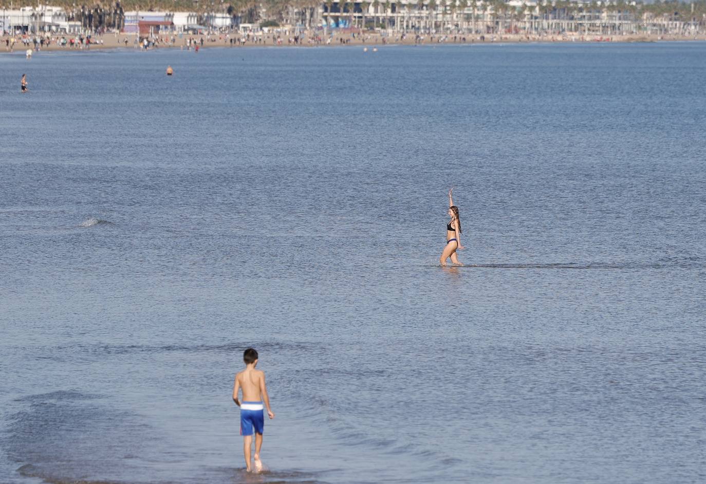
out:
{"label": "thin sandy shoreline crowded with people beyond the blue water", "polygon": [[[67,39],[71,38],[70,36],[65,36]],[[203,37],[204,42],[203,46],[201,45],[201,38]],[[222,47],[222,48],[232,48],[232,49],[244,49],[244,48],[249,48],[249,47],[272,47],[272,48],[280,48],[280,47],[368,47],[369,49],[373,48],[381,48],[381,47],[386,47],[389,45],[420,45],[420,46],[437,46],[437,45],[489,45],[489,44],[597,44],[597,43],[612,43],[612,44],[621,44],[621,43],[652,43],[652,42],[704,42],[706,41],[706,35],[700,35],[697,37],[680,37],[680,36],[675,36],[675,35],[669,35],[669,36],[657,36],[657,35],[618,35],[618,36],[601,36],[601,35],[573,35],[573,36],[552,36],[552,35],[546,35],[542,37],[530,37],[527,38],[522,35],[485,35],[485,40],[480,40],[481,36],[480,35],[473,35],[473,36],[464,36],[464,35],[445,35],[445,36],[438,36],[435,35],[433,36],[433,41],[431,40],[432,37],[429,35],[424,36],[424,40],[422,42],[416,42],[415,41],[415,36],[414,35],[407,35],[405,39],[400,39],[400,36],[393,36],[393,37],[381,37],[380,35],[371,35],[369,38],[366,38],[366,40],[361,39],[360,37],[357,38],[352,38],[350,35],[337,35],[334,36],[333,39],[330,42],[317,42],[317,43],[309,43],[309,42],[302,42],[299,44],[294,44],[287,42],[288,38],[287,37],[282,37],[282,44],[274,44],[272,40],[272,35],[267,35],[264,37],[265,41],[264,42],[251,42],[248,41],[245,44],[241,44],[239,42],[239,39],[241,38],[239,35],[234,35],[229,38],[227,38],[225,35],[219,35],[219,36],[211,36],[212,38],[210,40],[206,40],[207,36],[202,35],[202,36],[191,36],[193,39],[198,39],[199,44],[198,47],[199,49],[210,49],[212,47]],[[15,37],[18,42],[16,42],[15,47],[13,49],[13,52],[9,51],[6,49],[5,45],[5,40],[11,38],[11,36],[4,36],[0,37],[1,40],[1,46],[0,46],[0,54],[17,54],[17,53],[25,53],[28,50],[28,47],[33,47],[33,44],[28,44],[28,46],[25,46],[25,44],[22,44],[20,42],[21,37]],[[61,36],[59,37],[52,37],[52,40],[55,39],[60,39]],[[52,42],[52,44],[49,45],[49,47],[42,47],[39,52],[35,51],[32,49],[32,54],[37,54],[41,53],[42,51],[52,51],[52,52],[85,52],[85,51],[92,51],[92,50],[100,50],[100,51],[107,51],[107,50],[114,50],[114,49],[121,49],[121,50],[142,50],[139,49],[136,44],[134,43],[134,35],[133,34],[127,34],[127,35],[114,35],[114,34],[107,34],[103,35],[102,37],[94,37],[97,38],[98,40],[102,40],[102,43],[95,43],[95,44],[90,44],[90,47],[86,48],[83,47],[83,49],[79,47],[68,47],[67,46],[61,46],[59,44],[56,44]],[[128,44],[126,45],[124,40],[128,39]],[[162,43],[157,45],[156,47],[150,47],[150,50],[152,49],[180,49],[180,50],[187,50],[186,47],[186,42],[189,37],[177,37],[177,42],[175,44],[167,44],[167,43]],[[307,37],[309,38],[309,37]],[[383,38],[385,39],[383,41]],[[465,38],[465,42],[463,39]],[[214,42],[215,39],[215,42]],[[230,39],[233,39],[234,42],[231,45],[230,44]],[[440,39],[441,42],[439,41]],[[344,40],[344,42],[341,42],[341,40]],[[191,50],[193,51],[194,48],[191,47]]]}

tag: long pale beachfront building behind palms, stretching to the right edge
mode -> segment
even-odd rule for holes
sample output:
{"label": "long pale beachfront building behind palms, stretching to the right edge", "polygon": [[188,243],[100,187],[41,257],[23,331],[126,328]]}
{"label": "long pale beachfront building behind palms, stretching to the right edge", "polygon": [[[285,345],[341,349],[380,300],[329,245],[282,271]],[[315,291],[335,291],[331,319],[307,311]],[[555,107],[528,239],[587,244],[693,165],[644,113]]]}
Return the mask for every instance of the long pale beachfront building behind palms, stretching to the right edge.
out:
{"label": "long pale beachfront building behind palms, stretching to the right edge", "polygon": [[[285,12],[285,21],[323,28],[375,28],[387,32],[522,35],[621,35],[706,31],[706,18],[660,13],[640,18],[638,4],[567,0],[325,0],[310,15]],[[302,20],[304,19],[304,20]]]}

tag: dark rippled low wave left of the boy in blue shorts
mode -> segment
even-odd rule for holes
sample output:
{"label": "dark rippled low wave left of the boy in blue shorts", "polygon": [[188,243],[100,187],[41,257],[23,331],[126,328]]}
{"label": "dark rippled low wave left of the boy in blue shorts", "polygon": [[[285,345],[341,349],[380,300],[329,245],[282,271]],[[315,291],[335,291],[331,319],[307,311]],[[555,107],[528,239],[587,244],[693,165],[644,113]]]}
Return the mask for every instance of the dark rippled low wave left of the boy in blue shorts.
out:
{"label": "dark rippled low wave left of the boy in blue shorts", "polygon": [[102,476],[126,469],[135,473],[136,464],[125,451],[154,458],[150,449],[162,438],[150,421],[101,395],[67,389],[18,401],[22,405],[8,414],[0,446],[18,464],[18,476],[25,478],[51,484],[137,482]]}

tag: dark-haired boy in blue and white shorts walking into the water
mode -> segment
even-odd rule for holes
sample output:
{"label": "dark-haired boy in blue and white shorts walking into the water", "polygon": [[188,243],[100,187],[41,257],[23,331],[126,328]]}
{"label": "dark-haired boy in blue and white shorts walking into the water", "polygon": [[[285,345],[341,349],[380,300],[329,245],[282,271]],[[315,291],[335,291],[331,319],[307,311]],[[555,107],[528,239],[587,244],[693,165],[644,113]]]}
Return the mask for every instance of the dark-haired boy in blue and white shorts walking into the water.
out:
{"label": "dark-haired boy in blue and white shorts walking into the water", "polygon": [[[245,465],[250,472],[250,450],[255,434],[255,470],[260,472],[263,464],[260,461],[260,449],[263,446],[263,430],[265,417],[263,416],[263,402],[270,418],[275,414],[270,410],[270,397],[265,387],[265,372],[256,370],[258,352],[252,348],[243,353],[245,370],[235,375],[233,385],[233,401],[240,407],[240,433],[243,436],[243,454]],[[238,400],[238,390],[243,392],[243,401]]]}

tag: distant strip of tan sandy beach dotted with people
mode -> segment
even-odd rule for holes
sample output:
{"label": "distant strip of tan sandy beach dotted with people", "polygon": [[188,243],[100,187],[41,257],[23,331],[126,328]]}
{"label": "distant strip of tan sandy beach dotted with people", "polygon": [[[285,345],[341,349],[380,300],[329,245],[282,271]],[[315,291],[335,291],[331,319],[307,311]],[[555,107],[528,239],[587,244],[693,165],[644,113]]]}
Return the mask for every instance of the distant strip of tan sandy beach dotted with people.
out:
{"label": "distant strip of tan sandy beach dotted with people", "polygon": [[[31,38],[31,37],[29,37]],[[74,39],[74,44],[70,43]],[[13,44],[14,39],[14,44]],[[66,44],[62,42],[66,39]],[[421,35],[399,34],[381,35],[379,33],[335,34],[330,37],[323,37],[321,33],[304,34],[297,42],[294,35],[287,32],[268,33],[258,36],[243,36],[234,34],[211,34],[211,35],[181,35],[162,36],[155,39],[155,43],[149,49],[199,49],[206,47],[381,47],[384,45],[433,45],[433,44],[512,44],[512,43],[558,43],[558,42],[674,42],[674,41],[703,41],[706,35],[698,36],[678,36],[678,35]],[[191,43],[190,43],[191,41]],[[33,52],[42,50],[59,50],[83,52],[91,49],[141,49],[136,35],[134,34],[105,34],[93,36],[91,43],[80,44],[78,36],[52,36],[49,37],[48,45],[40,45],[35,49],[32,42],[23,44],[21,36],[0,37],[0,52],[25,52],[32,49]],[[39,45],[39,44],[38,44]]]}

